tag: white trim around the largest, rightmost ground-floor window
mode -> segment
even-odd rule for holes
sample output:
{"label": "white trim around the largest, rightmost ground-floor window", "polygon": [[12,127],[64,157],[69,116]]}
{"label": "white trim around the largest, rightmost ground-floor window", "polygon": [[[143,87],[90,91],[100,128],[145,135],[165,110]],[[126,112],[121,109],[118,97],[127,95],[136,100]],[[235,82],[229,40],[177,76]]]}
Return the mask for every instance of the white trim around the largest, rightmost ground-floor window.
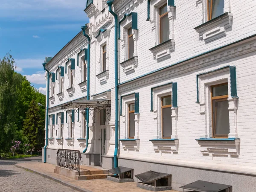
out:
{"label": "white trim around the largest, rightmost ground-floor window", "polygon": [[212,137],[212,111],[211,111],[211,86],[221,83],[228,84],[228,110],[230,121],[229,138],[239,138],[237,128],[238,99],[230,96],[230,70],[229,68],[198,76],[199,105],[201,115],[205,116],[205,133],[201,138]]}

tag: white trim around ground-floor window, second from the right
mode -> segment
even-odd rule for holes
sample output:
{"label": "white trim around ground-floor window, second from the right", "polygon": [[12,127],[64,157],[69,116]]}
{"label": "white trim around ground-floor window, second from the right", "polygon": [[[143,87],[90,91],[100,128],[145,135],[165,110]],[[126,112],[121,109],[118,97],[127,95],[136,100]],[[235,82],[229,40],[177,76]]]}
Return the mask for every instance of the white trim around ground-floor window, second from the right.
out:
{"label": "white trim around ground-floor window, second from the right", "polygon": [[[162,139],[162,119],[161,119],[161,107],[162,107],[162,97],[172,95],[172,84],[168,84],[163,87],[155,88],[153,90],[153,112],[154,119],[157,121],[157,133],[154,138]],[[172,106],[172,139],[178,139],[177,135],[177,117],[178,108]]]}

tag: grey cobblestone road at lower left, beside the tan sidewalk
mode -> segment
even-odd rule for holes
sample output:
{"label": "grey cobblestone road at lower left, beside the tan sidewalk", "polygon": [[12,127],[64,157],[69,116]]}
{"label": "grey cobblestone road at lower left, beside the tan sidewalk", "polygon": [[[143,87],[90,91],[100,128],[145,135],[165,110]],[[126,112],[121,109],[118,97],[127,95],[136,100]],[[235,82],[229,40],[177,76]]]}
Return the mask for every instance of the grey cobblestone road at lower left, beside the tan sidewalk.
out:
{"label": "grey cobblestone road at lower left, beside the tan sidewalk", "polygon": [[16,163],[33,164],[38,161],[41,161],[41,157],[15,160],[0,159],[0,192],[76,192],[76,190],[53,180],[15,167]]}

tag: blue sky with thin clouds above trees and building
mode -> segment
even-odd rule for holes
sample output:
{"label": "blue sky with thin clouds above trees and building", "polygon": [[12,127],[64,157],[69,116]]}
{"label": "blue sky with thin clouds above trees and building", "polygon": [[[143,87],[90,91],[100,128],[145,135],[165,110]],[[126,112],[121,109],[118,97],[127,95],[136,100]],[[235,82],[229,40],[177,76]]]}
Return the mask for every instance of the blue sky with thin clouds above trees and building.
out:
{"label": "blue sky with thin clouds above trees and building", "polygon": [[10,52],[16,71],[45,93],[44,58],[53,57],[88,23],[85,6],[86,0],[1,0],[0,58]]}

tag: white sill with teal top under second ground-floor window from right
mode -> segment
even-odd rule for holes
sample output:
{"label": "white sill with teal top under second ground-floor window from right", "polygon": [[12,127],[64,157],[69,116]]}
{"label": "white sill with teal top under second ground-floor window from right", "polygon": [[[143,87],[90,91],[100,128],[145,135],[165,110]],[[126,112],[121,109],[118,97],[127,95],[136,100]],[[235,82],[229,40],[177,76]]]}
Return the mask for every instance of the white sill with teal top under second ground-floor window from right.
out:
{"label": "white sill with teal top under second ground-floor window from right", "polygon": [[152,139],[149,140],[154,145],[154,151],[156,153],[178,153],[179,140],[178,139]]}

